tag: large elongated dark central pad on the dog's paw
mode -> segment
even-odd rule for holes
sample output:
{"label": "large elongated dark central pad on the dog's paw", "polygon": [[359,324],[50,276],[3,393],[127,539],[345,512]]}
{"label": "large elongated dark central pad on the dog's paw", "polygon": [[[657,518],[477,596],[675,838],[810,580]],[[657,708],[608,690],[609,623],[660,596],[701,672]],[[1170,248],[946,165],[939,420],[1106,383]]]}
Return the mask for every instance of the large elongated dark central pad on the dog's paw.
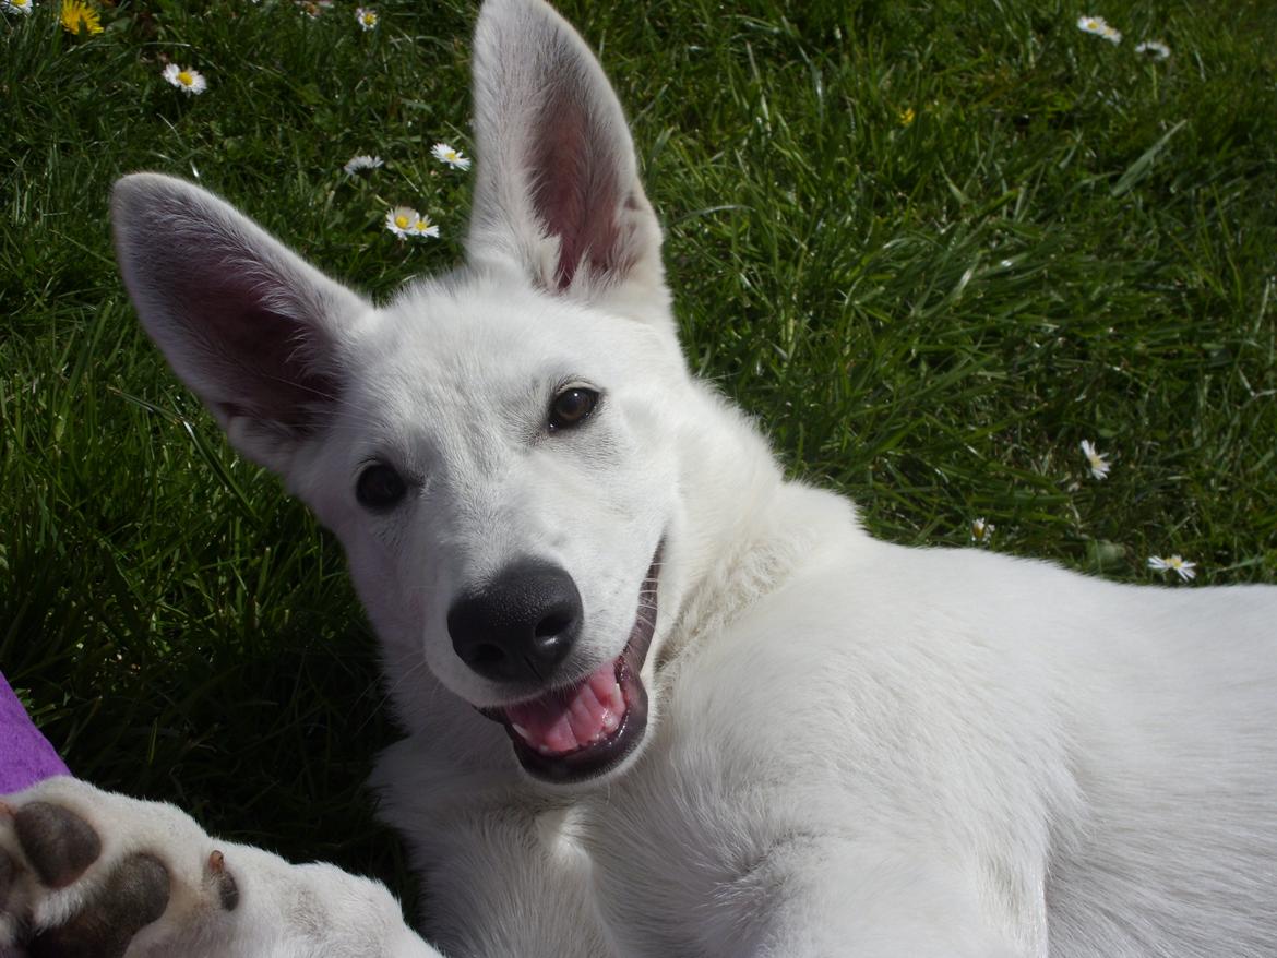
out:
{"label": "large elongated dark central pad on the dog's paw", "polygon": [[169,907],[169,884],[158,858],[129,856],[74,918],[27,947],[31,958],[120,958],[133,936]]}

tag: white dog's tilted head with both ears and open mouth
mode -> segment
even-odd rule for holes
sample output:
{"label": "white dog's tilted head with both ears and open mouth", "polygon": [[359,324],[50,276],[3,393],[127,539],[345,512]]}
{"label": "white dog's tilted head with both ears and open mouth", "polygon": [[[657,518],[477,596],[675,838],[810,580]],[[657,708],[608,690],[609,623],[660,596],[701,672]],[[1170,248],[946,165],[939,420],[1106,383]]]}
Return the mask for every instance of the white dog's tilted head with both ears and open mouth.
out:
{"label": "white dog's tilted head with both ears and open mouth", "polygon": [[585,43],[540,0],[488,0],[474,80],[467,262],[442,280],[374,307],[152,174],[116,185],[116,248],[176,373],[344,543],[404,710],[424,659],[529,773],[582,780],[645,736],[690,378]]}

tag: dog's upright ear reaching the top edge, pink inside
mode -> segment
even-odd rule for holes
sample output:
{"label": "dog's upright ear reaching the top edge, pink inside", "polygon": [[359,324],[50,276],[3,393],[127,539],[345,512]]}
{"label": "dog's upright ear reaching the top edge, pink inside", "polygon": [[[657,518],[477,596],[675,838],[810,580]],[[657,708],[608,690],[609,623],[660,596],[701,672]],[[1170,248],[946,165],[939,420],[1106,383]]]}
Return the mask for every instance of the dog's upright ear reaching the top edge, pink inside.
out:
{"label": "dog's upright ear reaching the top edge, pink inside", "polygon": [[577,32],[541,0],[487,0],[474,100],[471,259],[513,261],[573,298],[665,301],[626,118]]}

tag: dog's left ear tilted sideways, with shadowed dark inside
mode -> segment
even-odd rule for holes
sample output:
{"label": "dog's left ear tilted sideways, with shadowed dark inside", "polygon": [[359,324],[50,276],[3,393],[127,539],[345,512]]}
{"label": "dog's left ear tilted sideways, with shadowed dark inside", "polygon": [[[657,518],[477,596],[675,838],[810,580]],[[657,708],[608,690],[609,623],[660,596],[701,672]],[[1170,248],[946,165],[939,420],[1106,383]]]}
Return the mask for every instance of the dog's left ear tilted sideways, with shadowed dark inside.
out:
{"label": "dog's left ear tilted sideways, with shadowed dark inside", "polygon": [[370,307],[183,180],[125,176],[111,220],[151,338],[240,451],[286,473],[340,395],[341,341]]}

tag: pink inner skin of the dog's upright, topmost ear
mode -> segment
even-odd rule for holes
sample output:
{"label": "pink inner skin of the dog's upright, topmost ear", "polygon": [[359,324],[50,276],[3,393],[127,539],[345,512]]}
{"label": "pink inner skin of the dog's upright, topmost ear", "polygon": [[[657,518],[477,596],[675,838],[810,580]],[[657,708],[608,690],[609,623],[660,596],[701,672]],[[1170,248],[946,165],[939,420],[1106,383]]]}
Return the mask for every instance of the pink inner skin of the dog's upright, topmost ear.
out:
{"label": "pink inner skin of the dog's upright, topmost ear", "polygon": [[600,129],[589,105],[572,95],[571,84],[559,83],[548,92],[529,172],[533,208],[559,239],[554,281],[563,290],[582,264],[590,276],[601,278],[627,270],[630,263],[622,258],[618,160],[601,146],[612,142],[609,132]]}

